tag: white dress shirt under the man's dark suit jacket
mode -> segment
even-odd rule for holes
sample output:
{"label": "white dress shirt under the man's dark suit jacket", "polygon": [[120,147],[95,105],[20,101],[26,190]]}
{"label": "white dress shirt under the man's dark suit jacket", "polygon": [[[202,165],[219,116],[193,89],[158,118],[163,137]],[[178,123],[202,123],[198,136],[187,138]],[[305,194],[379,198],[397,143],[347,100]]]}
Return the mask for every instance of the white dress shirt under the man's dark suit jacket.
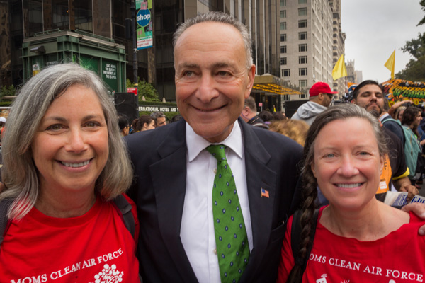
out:
{"label": "white dress shirt under the man's dark suit jacket", "polygon": [[[211,143],[198,136],[186,124],[186,145],[188,148],[186,166],[186,195],[181,219],[181,241],[189,262],[199,282],[220,282],[217,251],[215,249],[214,221],[212,216],[212,185],[217,160],[205,150]],[[251,214],[249,213],[248,192],[244,158],[242,130],[237,121],[232,132],[220,144],[225,144],[227,163],[234,175],[239,203],[248,236],[249,250],[252,250]]]}

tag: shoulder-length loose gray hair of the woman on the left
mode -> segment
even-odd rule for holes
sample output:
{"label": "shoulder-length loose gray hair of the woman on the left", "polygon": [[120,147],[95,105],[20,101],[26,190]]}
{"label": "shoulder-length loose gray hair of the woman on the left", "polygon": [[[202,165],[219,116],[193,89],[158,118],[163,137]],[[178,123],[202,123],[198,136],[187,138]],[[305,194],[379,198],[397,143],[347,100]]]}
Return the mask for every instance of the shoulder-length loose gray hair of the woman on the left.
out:
{"label": "shoulder-length loose gray hair of the woman on the left", "polygon": [[108,127],[108,161],[96,180],[96,194],[112,200],[131,185],[130,158],[120,135],[117,112],[103,81],[93,71],[77,64],[47,67],[21,88],[8,116],[1,149],[4,165],[2,177],[6,190],[1,192],[0,200],[14,200],[8,212],[9,219],[21,219],[37,201],[40,182],[31,145],[42,117],[52,102],[74,85],[84,86],[96,93]]}

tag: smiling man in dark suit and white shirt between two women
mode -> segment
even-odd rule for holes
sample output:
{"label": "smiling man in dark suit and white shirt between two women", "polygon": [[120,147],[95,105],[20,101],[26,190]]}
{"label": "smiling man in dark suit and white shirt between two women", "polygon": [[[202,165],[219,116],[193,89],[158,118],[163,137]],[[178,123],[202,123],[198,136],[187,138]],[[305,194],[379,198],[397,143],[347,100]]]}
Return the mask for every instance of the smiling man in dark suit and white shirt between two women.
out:
{"label": "smiling man in dark suit and white shirt between two women", "polygon": [[255,76],[242,23],[225,13],[199,15],[180,25],[173,43],[184,120],[126,138],[144,282],[232,282],[217,255],[217,160],[205,149],[211,144],[226,146],[249,245],[242,277],[234,281],[275,282],[285,221],[300,202],[302,147],[238,119]]}

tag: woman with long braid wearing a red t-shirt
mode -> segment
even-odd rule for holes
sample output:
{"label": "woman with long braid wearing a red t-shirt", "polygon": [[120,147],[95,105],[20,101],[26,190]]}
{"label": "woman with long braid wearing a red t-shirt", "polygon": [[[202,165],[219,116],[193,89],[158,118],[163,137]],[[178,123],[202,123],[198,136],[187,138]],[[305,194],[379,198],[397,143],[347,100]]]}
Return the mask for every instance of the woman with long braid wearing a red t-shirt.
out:
{"label": "woman with long braid wearing a red t-shirt", "polygon": [[[310,127],[304,152],[300,248],[294,260],[291,217],[278,282],[423,282],[423,220],[375,198],[387,152],[378,120],[353,104],[329,108]],[[309,253],[317,186],[329,206],[319,209]]]}

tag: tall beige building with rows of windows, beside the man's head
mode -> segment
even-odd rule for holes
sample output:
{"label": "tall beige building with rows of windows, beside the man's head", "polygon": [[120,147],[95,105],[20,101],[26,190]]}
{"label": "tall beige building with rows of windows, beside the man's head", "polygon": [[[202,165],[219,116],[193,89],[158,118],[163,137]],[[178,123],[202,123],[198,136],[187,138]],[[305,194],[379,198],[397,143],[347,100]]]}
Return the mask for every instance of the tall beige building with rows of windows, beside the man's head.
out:
{"label": "tall beige building with rows of windows, beside the man's head", "polygon": [[332,85],[332,18],[328,0],[280,0],[280,78]]}

